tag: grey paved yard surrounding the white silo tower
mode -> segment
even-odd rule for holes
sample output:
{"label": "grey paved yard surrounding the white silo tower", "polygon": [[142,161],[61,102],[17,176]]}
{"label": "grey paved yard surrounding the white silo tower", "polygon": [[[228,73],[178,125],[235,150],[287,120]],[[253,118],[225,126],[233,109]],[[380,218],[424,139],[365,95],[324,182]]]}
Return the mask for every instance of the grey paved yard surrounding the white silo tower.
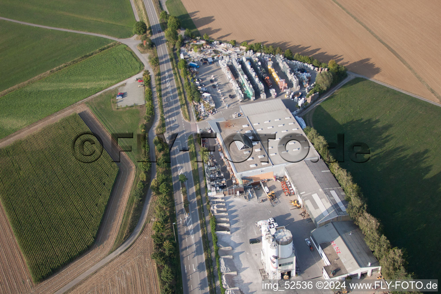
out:
{"label": "grey paved yard surrounding the white silo tower", "polygon": [[[244,197],[225,197],[225,203],[230,219],[231,234],[219,234],[221,246],[231,246],[232,250],[226,254],[232,254],[237,270],[237,276],[233,278],[235,287],[239,287],[243,293],[263,293],[261,275],[259,269],[263,268],[260,261],[262,243],[250,244],[250,238],[261,236],[261,232],[255,226],[256,221],[276,218],[279,226],[285,226],[291,231],[296,255],[296,265],[299,268],[299,276],[291,280],[321,279],[321,269],[324,265],[316,250],[313,252],[306,246],[305,238],[310,238],[310,231],[314,230],[313,222],[307,223],[299,213],[302,209],[289,204],[294,196],[285,196],[281,190],[280,182],[269,181],[268,188],[274,191],[277,200],[269,202],[262,188],[256,190],[256,197],[249,201]],[[325,291],[317,293],[328,293]]]}

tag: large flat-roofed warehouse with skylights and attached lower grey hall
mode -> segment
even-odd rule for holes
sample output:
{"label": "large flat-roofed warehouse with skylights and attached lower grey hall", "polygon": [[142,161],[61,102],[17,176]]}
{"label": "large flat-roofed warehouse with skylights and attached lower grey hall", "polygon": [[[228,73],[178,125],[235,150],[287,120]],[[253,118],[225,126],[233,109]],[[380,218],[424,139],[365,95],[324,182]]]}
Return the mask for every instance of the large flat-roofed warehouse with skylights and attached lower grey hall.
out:
{"label": "large flat-roofed warehouse with skylights and attached lower grey hall", "polygon": [[[264,100],[240,108],[241,117],[209,121],[230,161],[233,182],[286,176],[316,227],[350,220],[343,190],[282,100]],[[299,158],[300,153],[303,160],[286,160]]]}

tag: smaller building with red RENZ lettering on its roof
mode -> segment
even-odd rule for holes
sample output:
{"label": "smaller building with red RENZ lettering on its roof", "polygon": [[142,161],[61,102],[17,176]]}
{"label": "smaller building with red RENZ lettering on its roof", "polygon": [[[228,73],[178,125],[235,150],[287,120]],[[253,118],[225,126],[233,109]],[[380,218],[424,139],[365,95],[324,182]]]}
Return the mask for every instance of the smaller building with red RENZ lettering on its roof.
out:
{"label": "smaller building with red RENZ lettering on its roof", "polygon": [[324,279],[360,279],[381,270],[363,233],[352,221],[325,224],[311,231],[311,241],[325,262]]}

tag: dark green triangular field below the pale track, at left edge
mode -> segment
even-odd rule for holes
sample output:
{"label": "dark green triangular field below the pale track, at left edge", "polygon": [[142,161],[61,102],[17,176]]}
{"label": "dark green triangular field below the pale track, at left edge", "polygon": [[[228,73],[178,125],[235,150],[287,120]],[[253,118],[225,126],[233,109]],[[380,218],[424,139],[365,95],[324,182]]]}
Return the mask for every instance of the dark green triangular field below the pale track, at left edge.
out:
{"label": "dark green triangular field below the pale track, at left edge", "polygon": [[93,52],[109,39],[0,20],[0,91]]}

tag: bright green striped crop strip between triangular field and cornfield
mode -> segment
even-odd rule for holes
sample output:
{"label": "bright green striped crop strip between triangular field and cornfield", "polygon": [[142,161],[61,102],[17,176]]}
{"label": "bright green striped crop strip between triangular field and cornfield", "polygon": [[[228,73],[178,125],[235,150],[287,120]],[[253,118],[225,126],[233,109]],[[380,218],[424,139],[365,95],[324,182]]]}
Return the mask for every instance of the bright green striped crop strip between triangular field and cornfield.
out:
{"label": "bright green striped crop strip between triangular field and cornfield", "polygon": [[142,63],[118,45],[0,97],[0,138],[140,72]]}

